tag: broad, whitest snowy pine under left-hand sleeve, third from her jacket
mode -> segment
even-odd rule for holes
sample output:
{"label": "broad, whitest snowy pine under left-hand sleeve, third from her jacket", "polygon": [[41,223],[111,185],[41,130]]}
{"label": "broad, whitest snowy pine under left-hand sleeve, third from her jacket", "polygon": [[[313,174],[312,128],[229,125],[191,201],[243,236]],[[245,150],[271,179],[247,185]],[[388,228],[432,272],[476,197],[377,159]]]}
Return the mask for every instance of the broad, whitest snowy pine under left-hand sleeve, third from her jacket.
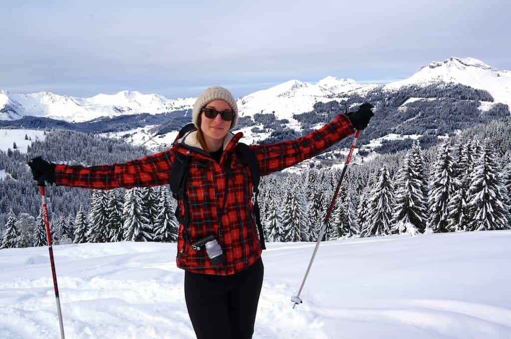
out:
{"label": "broad, whitest snowy pine under left-hand sleeve, third from her jacket", "polygon": [[[123,229],[126,241],[150,241],[152,228],[142,211],[142,192],[133,187],[126,190],[123,207]],[[148,232],[149,231],[149,232]]]}

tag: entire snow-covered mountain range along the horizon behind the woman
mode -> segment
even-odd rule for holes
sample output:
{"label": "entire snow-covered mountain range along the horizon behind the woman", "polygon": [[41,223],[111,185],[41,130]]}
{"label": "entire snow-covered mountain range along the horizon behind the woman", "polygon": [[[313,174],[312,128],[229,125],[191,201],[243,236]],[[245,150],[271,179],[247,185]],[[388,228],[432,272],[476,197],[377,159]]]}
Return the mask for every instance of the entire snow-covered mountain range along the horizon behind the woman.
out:
{"label": "entire snow-covered mountain range along the horizon behind the woman", "polygon": [[[326,77],[316,84],[290,80],[238,99],[241,116],[274,112],[278,119],[293,122],[295,113],[312,110],[317,102],[342,100],[343,96],[363,94],[381,87],[398,90],[402,86],[426,86],[444,81],[487,90],[497,103],[511,106],[511,71],[499,70],[474,58],[449,58],[421,67],[410,78],[386,85],[362,84],[353,79]],[[85,122],[102,116],[158,114],[191,109],[196,98],[167,99],[158,94],[121,91],[91,98],[58,95],[50,92],[30,94],[0,91],[0,120],[24,116],[49,117],[66,122]]]}

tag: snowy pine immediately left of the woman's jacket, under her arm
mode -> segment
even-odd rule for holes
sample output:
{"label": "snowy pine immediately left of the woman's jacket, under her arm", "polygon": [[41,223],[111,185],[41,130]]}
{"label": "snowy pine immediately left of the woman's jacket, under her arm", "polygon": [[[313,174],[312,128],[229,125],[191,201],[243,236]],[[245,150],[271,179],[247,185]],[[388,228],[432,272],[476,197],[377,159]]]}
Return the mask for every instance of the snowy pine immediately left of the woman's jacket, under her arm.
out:
{"label": "snowy pine immediately left of the woman's jacket, under her arm", "polygon": [[155,241],[176,241],[178,222],[174,211],[176,206],[171,203],[169,189],[162,186],[159,192],[159,214],[154,221]]}

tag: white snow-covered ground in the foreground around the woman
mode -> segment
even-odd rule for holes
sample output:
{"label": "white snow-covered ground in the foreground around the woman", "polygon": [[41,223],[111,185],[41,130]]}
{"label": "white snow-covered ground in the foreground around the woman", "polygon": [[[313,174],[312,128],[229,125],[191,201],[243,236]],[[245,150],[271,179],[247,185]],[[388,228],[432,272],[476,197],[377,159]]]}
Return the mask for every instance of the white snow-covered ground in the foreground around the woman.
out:
{"label": "white snow-covered ground in the foreground around the woman", "polygon": [[[268,244],[254,339],[511,338],[511,231]],[[68,338],[194,338],[175,244],[54,248]],[[0,337],[56,338],[48,249],[0,251]]]}

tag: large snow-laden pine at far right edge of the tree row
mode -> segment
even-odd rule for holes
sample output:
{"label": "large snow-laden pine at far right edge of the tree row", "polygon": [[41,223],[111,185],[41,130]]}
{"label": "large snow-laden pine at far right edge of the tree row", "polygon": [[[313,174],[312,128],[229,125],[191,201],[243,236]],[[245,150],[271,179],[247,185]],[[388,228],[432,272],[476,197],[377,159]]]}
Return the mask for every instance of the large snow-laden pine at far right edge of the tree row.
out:
{"label": "large snow-laden pine at far right edge of the tree row", "polygon": [[470,231],[502,230],[508,228],[508,206],[505,205],[506,192],[499,175],[499,164],[495,159],[495,150],[486,143],[481,159],[474,168],[471,177],[468,202],[471,215]]}

